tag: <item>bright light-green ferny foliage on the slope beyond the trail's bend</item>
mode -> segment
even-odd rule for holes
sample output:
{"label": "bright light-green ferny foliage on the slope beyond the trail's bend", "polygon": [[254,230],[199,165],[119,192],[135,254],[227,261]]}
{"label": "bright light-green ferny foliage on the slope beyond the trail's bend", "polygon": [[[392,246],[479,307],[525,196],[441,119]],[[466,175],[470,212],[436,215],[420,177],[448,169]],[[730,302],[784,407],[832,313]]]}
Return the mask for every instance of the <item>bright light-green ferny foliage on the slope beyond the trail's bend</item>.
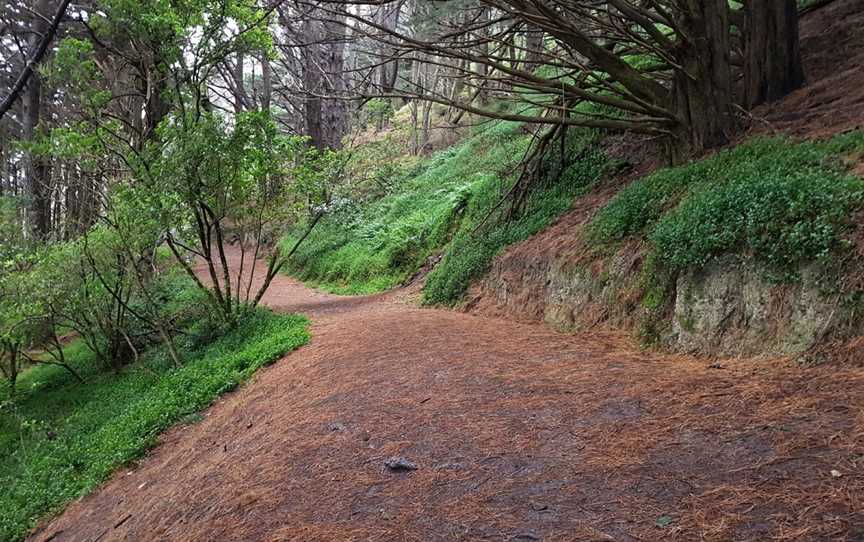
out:
{"label": "bright light-green ferny foliage on the slope beyond the trail's bend", "polygon": [[[503,189],[530,140],[517,127],[487,125],[404,173],[385,162],[384,179],[367,200],[334,199],[330,213],[289,261],[289,272],[339,293],[371,293],[401,283],[447,243],[468,200],[492,185]],[[302,232],[301,226],[287,236],[283,250]]]}

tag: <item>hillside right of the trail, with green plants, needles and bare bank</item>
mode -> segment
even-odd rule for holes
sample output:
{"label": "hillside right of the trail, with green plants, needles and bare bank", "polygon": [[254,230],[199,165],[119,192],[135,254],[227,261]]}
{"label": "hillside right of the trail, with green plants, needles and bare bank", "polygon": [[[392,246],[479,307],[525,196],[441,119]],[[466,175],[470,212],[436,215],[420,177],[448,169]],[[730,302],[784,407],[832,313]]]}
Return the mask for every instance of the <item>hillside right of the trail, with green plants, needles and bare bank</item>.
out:
{"label": "hillside right of the trail, with green plants, needles and bare bank", "polygon": [[[530,129],[485,122],[325,219],[292,273],[371,293],[431,269],[424,303],[559,330],[623,328],[708,355],[844,341],[860,332],[862,17],[845,0],[805,15],[810,84],[755,111],[716,156],[657,170],[648,140],[573,130],[566,169],[512,219],[505,194]],[[391,152],[398,131],[385,137]]]}

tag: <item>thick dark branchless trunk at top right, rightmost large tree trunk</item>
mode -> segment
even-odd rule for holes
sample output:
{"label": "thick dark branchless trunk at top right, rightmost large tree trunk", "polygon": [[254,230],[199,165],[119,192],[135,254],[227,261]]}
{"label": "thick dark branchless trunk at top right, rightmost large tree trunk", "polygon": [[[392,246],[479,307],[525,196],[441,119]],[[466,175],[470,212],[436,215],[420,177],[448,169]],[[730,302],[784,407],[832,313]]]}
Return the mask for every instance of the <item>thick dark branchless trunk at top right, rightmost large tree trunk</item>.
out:
{"label": "thick dark branchless trunk at top right, rightmost large tree trunk", "polygon": [[804,85],[795,0],[750,0],[744,28],[744,105],[779,100]]}

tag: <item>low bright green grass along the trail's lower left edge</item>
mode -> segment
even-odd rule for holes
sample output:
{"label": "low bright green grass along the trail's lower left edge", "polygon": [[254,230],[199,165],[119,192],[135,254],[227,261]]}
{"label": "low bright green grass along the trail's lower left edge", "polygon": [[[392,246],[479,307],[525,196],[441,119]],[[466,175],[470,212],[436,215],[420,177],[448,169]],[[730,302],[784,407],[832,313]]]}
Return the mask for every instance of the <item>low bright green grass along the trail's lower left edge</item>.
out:
{"label": "low bright green grass along the trail's lower left edge", "polygon": [[23,538],[36,521],[93,490],[141,457],[156,437],[308,341],[307,320],[259,310],[211,341],[185,338],[174,368],[160,349],[122,372],[105,373],[80,342],[68,347],[86,382],[36,366],[18,393],[0,396],[0,540]]}

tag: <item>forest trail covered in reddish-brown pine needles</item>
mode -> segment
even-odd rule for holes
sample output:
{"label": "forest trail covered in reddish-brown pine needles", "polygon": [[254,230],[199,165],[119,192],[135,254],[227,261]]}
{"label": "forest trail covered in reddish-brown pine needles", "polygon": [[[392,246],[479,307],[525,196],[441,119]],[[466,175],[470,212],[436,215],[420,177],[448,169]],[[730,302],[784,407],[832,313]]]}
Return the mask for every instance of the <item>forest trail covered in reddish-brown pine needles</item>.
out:
{"label": "forest trail covered in reddish-brown pine needles", "polygon": [[278,276],[266,303],[310,316],[311,343],[32,539],[864,536],[860,367],[712,364],[398,298]]}

